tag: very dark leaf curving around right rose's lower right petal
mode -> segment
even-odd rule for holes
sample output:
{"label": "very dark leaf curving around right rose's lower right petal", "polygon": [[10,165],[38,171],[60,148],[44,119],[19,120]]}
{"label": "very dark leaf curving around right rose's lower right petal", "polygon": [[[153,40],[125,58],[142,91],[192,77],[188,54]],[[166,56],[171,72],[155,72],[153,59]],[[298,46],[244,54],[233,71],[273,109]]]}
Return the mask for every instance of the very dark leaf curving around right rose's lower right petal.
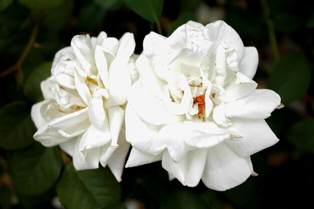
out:
{"label": "very dark leaf curving around right rose's lower right petal", "polygon": [[244,183],[224,192],[232,202],[240,206],[244,206],[254,197],[269,174],[269,166],[263,158],[253,155],[251,160],[258,176],[250,176]]}

